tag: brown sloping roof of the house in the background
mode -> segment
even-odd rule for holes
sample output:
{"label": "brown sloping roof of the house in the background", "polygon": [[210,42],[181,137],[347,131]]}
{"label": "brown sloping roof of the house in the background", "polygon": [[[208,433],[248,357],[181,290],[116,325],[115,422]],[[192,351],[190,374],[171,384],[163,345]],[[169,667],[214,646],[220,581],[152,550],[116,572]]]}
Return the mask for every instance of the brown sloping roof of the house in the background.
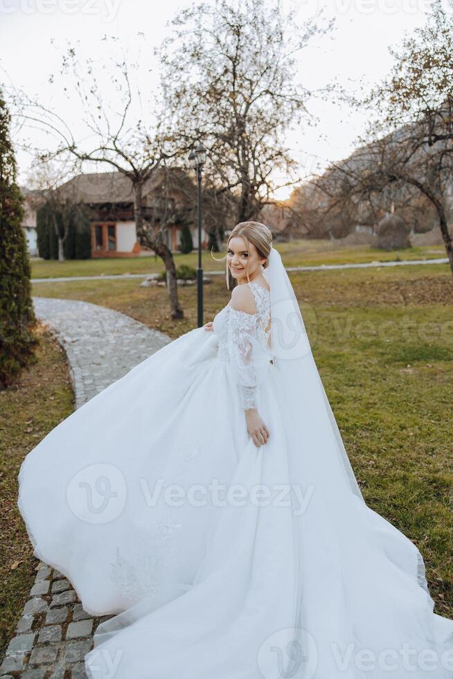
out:
{"label": "brown sloping roof of the house in the background", "polygon": [[[175,188],[178,185],[181,186],[181,182],[190,182],[188,175],[180,168],[159,168],[143,186],[144,204],[147,204],[148,197],[152,196],[154,200],[157,188],[163,184],[168,173]],[[132,182],[121,172],[75,175],[58,187],[58,193],[71,197],[73,202],[90,204],[132,203],[134,201]]]}

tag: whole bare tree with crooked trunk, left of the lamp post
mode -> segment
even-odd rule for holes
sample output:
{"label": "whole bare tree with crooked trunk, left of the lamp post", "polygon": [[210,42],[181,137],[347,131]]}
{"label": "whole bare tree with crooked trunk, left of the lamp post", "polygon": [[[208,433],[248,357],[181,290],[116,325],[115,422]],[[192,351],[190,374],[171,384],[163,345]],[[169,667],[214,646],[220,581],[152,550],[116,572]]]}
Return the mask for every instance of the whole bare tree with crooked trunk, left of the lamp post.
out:
{"label": "whole bare tree with crooked trunk, left of the lamp post", "polygon": [[[172,134],[171,112],[166,110],[159,94],[145,94],[139,82],[132,82],[130,72],[136,68],[138,65],[128,64],[124,56],[119,62],[113,60],[102,64],[92,60],[80,62],[73,47],[65,53],[61,71],[66,78],[64,91],[71,101],[74,97],[80,100],[89,139],[94,139],[91,148],[87,148],[87,141],[76,139],[60,116],[24,95],[21,97],[21,118],[57,137],[56,148],[42,151],[42,160],[70,152],[82,164],[107,165],[130,180],[137,240],[161,257],[167,272],[170,313],[172,318],[178,319],[184,317],[184,312],[178,299],[175,261],[167,244],[168,221],[165,213],[161,213],[159,222],[148,218],[143,188],[158,170],[168,168],[177,155],[186,154],[188,148]],[[100,87],[101,69],[108,71],[109,87],[118,96],[113,103],[103,95]],[[148,122],[150,115],[152,123]]]}

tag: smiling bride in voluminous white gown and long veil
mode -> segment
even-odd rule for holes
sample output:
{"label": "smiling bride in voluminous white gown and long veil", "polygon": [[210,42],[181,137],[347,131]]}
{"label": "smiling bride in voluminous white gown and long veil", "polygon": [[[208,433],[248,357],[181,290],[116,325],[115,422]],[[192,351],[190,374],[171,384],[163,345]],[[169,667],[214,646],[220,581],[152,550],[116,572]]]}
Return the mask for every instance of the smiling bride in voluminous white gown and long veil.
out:
{"label": "smiling bride in voluminous white gown and long veil", "polygon": [[299,304],[259,222],[231,300],[31,450],[34,554],[98,625],[91,679],[447,679],[453,621],[366,506]]}

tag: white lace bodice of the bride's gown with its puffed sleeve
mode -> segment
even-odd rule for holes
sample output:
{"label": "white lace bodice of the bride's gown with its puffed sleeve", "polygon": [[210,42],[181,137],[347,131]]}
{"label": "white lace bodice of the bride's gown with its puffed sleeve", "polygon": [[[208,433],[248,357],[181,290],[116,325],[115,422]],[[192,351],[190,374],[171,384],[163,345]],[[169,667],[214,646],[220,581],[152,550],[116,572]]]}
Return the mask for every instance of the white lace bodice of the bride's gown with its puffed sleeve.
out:
{"label": "white lace bodice of the bride's gown with its puffed sleeve", "polygon": [[249,314],[227,304],[214,318],[219,342],[217,358],[231,364],[244,409],[258,407],[258,387],[270,355],[270,292],[258,283],[246,283],[254,294],[256,312]]}

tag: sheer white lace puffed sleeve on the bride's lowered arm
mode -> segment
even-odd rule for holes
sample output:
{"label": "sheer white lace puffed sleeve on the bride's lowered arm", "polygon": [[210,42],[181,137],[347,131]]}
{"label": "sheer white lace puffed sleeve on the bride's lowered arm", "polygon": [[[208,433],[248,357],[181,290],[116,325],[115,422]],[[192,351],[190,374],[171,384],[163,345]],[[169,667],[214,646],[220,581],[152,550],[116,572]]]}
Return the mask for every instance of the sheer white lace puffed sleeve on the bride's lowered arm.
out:
{"label": "sheer white lace puffed sleeve on the bride's lowered arm", "polygon": [[258,387],[269,366],[269,352],[257,338],[256,315],[230,309],[229,358],[240,389],[242,407],[258,407]]}

